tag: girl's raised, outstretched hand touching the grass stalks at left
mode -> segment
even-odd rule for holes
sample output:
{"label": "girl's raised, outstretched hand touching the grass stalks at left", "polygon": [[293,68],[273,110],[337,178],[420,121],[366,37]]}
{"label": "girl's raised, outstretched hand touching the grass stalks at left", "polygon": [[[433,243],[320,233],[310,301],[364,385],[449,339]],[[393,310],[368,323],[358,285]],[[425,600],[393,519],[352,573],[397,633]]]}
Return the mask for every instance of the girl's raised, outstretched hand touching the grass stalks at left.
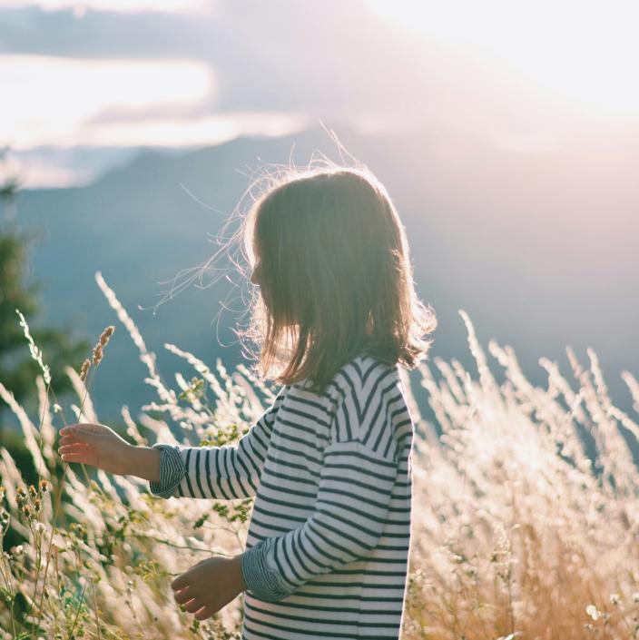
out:
{"label": "girl's raised, outstretched hand touching the grass stalks at left", "polygon": [[117,476],[131,473],[134,448],[112,428],[91,422],[78,422],[60,429],[58,453],[64,462],[80,462]]}

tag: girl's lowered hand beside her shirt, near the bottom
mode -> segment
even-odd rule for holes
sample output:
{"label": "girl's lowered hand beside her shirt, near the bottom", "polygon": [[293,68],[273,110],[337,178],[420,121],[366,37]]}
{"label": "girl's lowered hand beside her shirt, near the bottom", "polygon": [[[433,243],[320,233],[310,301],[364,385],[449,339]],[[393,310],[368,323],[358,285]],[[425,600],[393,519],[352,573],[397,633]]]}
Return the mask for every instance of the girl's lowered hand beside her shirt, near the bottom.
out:
{"label": "girl's lowered hand beside her shirt, near the bottom", "polygon": [[175,602],[198,620],[216,614],[246,588],[241,579],[241,556],[207,557],[171,583]]}

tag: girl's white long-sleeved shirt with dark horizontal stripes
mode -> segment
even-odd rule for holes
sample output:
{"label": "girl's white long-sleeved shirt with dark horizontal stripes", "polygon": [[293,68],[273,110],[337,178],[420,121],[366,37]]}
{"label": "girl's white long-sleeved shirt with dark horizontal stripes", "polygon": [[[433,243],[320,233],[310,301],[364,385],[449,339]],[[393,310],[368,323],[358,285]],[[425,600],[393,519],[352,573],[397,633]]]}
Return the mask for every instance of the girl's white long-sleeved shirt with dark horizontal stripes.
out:
{"label": "girl's white long-sleeved shirt with dark horizontal stripes", "polygon": [[159,497],[255,497],[242,640],[398,638],[413,421],[398,365],[359,353],[324,393],[282,387],[235,446],[161,450]]}

